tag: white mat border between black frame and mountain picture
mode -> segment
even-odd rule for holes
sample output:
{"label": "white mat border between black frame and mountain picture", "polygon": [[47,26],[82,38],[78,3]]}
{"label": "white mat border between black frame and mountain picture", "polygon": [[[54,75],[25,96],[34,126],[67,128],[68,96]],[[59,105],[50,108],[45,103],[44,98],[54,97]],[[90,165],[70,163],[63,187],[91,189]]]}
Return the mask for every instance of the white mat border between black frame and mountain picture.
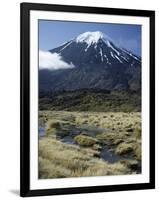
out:
{"label": "white mat border between black frame and mountain picture", "polygon": [[[38,20],[102,22],[142,25],[142,174],[38,179]],[[87,20],[86,20],[87,19]],[[149,183],[149,44],[148,17],[30,11],[30,189]],[[144,87],[143,87],[144,86]],[[143,98],[144,97],[144,98]]]}

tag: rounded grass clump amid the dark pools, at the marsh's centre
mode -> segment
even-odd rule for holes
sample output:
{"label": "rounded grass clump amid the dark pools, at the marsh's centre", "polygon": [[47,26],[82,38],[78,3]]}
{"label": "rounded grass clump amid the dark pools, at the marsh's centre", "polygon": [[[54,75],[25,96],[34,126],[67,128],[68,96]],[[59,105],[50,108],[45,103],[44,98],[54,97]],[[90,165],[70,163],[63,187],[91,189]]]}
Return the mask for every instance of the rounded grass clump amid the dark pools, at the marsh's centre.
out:
{"label": "rounded grass clump amid the dark pools, at the marsh's centre", "polygon": [[93,146],[97,143],[97,140],[93,137],[89,137],[86,135],[77,135],[74,140],[80,145],[80,146]]}

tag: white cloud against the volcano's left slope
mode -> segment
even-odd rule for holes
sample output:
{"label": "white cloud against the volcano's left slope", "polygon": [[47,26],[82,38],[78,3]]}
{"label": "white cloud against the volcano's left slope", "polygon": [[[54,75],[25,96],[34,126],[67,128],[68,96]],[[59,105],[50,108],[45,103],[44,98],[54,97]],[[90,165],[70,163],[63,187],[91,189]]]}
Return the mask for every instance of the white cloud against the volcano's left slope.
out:
{"label": "white cloud against the volcano's left slope", "polygon": [[57,53],[50,53],[48,51],[39,51],[39,68],[58,70],[74,68],[72,63],[66,63],[62,60],[62,57]]}

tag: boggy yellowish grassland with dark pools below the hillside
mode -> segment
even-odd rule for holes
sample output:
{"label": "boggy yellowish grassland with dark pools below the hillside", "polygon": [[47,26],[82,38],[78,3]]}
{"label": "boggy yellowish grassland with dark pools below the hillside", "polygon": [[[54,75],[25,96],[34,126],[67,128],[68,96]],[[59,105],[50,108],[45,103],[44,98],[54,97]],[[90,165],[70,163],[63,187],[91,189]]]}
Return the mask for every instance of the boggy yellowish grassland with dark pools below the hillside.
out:
{"label": "boggy yellowish grassland with dark pools below the hillside", "polygon": [[39,112],[39,178],[141,173],[139,112]]}

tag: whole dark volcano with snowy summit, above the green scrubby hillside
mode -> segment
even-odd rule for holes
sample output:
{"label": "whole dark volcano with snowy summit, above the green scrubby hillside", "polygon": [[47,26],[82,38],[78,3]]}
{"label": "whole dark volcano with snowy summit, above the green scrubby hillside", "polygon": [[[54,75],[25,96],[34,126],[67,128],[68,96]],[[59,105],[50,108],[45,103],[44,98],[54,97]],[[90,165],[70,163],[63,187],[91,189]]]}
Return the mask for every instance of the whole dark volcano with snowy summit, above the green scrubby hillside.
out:
{"label": "whole dark volcano with snowy summit, above the green scrubby hillside", "polygon": [[141,59],[117,47],[101,32],[83,33],[50,52],[59,54],[74,68],[40,70],[41,91],[141,88]]}

